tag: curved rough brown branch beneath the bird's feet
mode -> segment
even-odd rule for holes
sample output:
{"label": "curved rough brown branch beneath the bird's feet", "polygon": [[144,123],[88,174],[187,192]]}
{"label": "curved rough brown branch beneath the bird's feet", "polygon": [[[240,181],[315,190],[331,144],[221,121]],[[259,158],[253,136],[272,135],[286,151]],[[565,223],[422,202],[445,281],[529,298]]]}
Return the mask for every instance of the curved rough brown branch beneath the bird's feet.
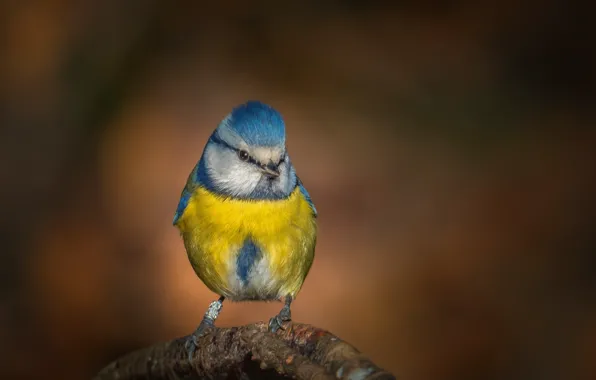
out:
{"label": "curved rough brown branch beneath the bird's feet", "polygon": [[131,352],[95,379],[395,379],[330,332],[301,323],[287,322],[276,334],[263,322],[213,329],[190,361],[186,338]]}

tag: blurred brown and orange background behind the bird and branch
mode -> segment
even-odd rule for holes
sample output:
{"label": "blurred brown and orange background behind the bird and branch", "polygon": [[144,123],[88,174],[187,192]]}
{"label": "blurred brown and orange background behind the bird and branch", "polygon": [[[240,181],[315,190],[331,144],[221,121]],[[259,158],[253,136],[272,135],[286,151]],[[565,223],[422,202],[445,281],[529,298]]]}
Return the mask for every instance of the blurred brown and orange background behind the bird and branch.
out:
{"label": "blurred brown and orange background behind the bird and branch", "polygon": [[320,214],[295,320],[402,379],[596,378],[587,3],[2,1],[0,377],[194,330],[216,296],[172,216],[259,99]]}

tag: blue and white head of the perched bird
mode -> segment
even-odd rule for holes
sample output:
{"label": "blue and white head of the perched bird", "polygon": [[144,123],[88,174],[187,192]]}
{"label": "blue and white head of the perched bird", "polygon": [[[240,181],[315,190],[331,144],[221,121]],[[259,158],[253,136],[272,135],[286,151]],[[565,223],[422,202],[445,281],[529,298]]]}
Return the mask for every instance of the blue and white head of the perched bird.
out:
{"label": "blue and white head of the perched bird", "polygon": [[209,138],[197,166],[196,181],[236,198],[285,198],[296,186],[285,141],[279,112],[257,101],[240,105]]}

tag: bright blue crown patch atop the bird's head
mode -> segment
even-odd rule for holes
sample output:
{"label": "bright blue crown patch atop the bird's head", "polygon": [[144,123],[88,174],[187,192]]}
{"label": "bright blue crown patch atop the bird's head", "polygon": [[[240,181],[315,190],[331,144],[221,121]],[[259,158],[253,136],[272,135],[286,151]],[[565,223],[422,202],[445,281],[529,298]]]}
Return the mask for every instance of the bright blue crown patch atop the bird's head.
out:
{"label": "bright blue crown patch atop the bird's head", "polygon": [[249,145],[279,146],[286,141],[281,114],[259,101],[249,101],[234,108],[223,122]]}

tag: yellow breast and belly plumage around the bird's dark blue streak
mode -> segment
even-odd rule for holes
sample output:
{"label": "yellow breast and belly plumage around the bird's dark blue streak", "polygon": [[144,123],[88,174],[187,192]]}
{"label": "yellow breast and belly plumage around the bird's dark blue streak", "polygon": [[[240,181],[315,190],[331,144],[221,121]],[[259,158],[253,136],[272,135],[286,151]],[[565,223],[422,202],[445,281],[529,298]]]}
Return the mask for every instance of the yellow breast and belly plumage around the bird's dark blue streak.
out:
{"label": "yellow breast and belly plumage around the bird's dark blue streak", "polygon": [[[295,297],[314,258],[315,217],[298,187],[286,199],[257,201],[198,188],[176,225],[197,275],[232,300]],[[237,258],[247,238],[262,260],[250,283],[242,284]]]}

